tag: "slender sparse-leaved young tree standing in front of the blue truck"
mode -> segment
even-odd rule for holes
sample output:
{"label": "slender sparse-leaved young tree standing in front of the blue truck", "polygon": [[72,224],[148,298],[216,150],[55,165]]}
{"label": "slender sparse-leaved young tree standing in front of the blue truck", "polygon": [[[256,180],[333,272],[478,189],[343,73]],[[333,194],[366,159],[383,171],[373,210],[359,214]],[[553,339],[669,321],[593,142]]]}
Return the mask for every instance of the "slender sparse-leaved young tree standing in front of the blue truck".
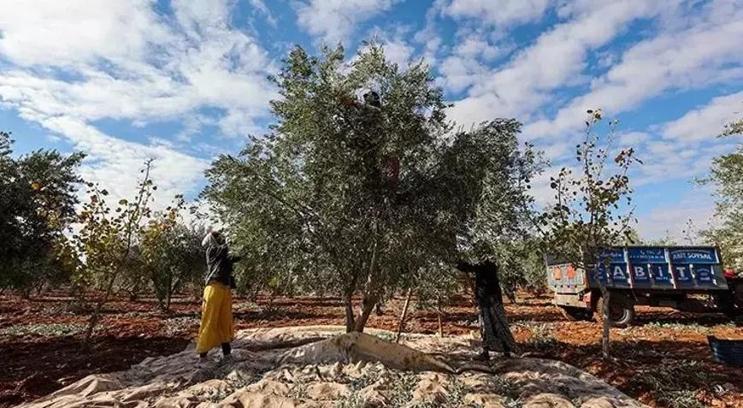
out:
{"label": "slender sparse-leaved young tree standing in front of the blue truck", "polygon": [[[608,259],[602,249],[624,242],[633,233],[634,219],[630,208],[632,189],[627,173],[639,162],[634,149],[615,149],[613,146],[617,122],[609,123],[609,132],[602,138],[596,131],[602,119],[600,110],[589,110],[585,138],[576,146],[577,168],[563,167],[551,178],[555,202],[545,213],[549,226],[548,242],[553,253],[572,263],[576,268],[600,273],[600,266]],[[613,160],[611,160],[613,158]],[[624,205],[625,207],[620,207]],[[626,208],[626,210],[625,210]],[[608,267],[608,265],[605,265]],[[605,279],[598,280],[601,288],[599,313],[603,316],[602,351],[609,356],[609,310],[611,300]]]}

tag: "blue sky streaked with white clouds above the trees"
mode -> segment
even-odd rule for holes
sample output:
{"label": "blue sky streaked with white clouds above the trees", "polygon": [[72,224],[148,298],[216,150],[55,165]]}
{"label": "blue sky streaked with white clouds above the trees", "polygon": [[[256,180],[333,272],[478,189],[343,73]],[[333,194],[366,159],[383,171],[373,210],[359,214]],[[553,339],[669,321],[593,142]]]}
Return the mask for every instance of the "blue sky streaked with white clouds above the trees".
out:
{"label": "blue sky streaked with white clouds above the trees", "polygon": [[641,236],[679,238],[714,212],[704,177],[741,138],[743,0],[0,0],[0,129],[16,153],[83,151],[83,177],[131,196],[155,159],[158,205],[196,198],[204,170],[272,123],[267,77],[299,44],[383,44],[425,60],[468,127],[524,124],[538,177],[574,160],[587,109],[617,119]]}

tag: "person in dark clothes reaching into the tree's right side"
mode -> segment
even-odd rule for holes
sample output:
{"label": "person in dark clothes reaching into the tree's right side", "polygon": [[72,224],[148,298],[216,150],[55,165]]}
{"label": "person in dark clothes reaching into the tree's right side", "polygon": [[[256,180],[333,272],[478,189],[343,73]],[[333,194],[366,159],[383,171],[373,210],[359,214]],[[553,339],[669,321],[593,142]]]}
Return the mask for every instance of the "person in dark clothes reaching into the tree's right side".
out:
{"label": "person in dark clothes reaching into the tree's right side", "polygon": [[516,349],[503,307],[503,295],[498,281],[498,267],[492,261],[477,264],[459,262],[457,269],[475,275],[475,300],[480,309],[481,360],[489,360],[491,351],[509,357]]}

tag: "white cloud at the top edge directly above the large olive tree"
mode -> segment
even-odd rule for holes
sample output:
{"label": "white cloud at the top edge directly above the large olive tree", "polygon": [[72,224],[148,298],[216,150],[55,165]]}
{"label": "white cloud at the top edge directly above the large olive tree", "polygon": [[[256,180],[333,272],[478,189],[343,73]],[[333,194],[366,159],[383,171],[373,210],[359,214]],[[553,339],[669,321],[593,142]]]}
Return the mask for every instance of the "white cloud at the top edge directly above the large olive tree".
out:
{"label": "white cloud at the top edge directly above the large olive tree", "polygon": [[297,3],[297,22],[329,45],[344,43],[356,26],[389,10],[397,0],[309,0]]}

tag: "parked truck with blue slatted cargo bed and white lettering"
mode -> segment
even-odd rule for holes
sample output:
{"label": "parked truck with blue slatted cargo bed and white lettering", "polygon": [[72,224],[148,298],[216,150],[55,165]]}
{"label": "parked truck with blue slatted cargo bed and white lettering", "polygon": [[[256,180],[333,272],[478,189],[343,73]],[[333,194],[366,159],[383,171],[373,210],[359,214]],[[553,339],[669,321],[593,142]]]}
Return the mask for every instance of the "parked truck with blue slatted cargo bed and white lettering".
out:
{"label": "parked truck with blue slatted cargo bed and white lettering", "polygon": [[632,324],[636,305],[731,318],[743,311],[743,276],[723,269],[716,247],[622,246],[599,254],[587,270],[559,256],[545,258],[554,304],[571,320],[603,319],[602,287],[610,294],[610,323],[618,327]]}

